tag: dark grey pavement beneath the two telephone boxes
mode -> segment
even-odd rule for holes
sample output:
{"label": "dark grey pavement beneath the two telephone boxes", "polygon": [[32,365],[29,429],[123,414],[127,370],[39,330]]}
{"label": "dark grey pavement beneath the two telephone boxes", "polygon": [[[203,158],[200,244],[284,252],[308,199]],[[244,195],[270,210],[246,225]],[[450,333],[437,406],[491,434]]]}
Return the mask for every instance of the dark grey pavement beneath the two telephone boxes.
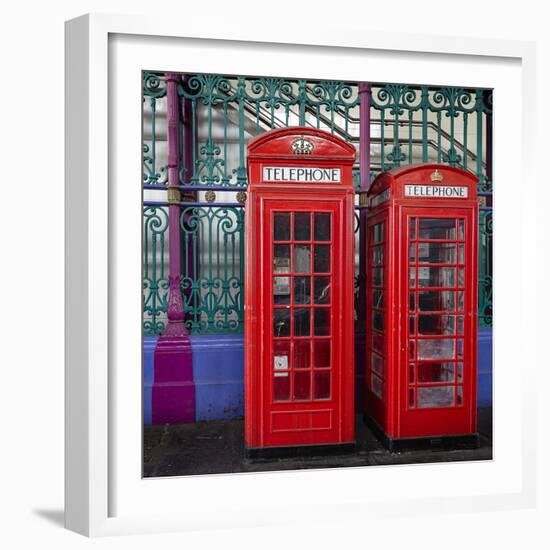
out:
{"label": "dark grey pavement beneath the two telephone boxes", "polygon": [[144,426],[143,476],[164,477],[309,468],[342,468],[491,460],[492,410],[478,410],[477,449],[412,450],[390,453],[356,417],[355,452],[331,456],[248,460],[244,455],[244,421],[214,420],[195,424]]}

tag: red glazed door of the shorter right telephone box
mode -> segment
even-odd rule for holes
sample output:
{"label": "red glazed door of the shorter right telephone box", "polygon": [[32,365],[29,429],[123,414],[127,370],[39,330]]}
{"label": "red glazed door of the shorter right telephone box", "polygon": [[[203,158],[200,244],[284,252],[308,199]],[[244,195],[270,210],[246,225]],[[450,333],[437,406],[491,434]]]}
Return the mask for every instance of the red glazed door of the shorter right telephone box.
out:
{"label": "red glazed door of the shorter right telephone box", "polygon": [[[470,209],[404,207],[402,436],[475,431],[475,223]],[[437,414],[434,414],[437,410]]]}

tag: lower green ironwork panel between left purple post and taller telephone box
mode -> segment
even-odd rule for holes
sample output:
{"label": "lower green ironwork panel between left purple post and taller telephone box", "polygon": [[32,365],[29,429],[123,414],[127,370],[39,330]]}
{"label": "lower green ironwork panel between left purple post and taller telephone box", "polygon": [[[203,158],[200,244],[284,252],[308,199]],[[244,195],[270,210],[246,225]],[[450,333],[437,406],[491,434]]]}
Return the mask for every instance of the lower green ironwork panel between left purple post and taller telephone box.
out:
{"label": "lower green ironwork panel between left purple post and taller telephone box", "polygon": [[188,206],[180,216],[181,289],[190,332],[239,332],[243,326],[244,210]]}

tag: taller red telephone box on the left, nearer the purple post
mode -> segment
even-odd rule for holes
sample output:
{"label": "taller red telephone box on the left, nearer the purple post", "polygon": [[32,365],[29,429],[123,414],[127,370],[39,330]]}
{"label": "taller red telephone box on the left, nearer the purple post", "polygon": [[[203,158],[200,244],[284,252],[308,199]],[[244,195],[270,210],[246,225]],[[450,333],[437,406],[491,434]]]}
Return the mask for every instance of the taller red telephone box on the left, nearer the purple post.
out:
{"label": "taller red telephone box on the left, nearer the purple post", "polygon": [[248,144],[251,457],[354,447],[354,160],[352,145],[312,128],[273,130]]}

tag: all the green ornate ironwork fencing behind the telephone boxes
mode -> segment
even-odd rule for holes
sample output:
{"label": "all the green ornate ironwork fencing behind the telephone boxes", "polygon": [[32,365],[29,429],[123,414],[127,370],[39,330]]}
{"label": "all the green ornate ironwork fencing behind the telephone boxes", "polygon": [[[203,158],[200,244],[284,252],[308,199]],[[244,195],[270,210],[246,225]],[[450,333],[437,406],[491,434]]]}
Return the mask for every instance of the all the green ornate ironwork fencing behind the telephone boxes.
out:
{"label": "all the green ornate ironwork fencing behind the telephone boxes", "polygon": [[[165,95],[163,74],[145,72],[143,183],[146,185],[166,185],[167,159],[162,140],[165,128],[161,124],[165,120],[161,117]],[[179,179],[181,185],[193,186],[197,191],[204,186],[235,190],[246,187],[246,144],[274,128],[311,126],[339,135],[357,147],[359,144],[356,83],[193,74],[186,75],[178,85],[178,95],[189,113],[185,131],[191,142],[184,148],[184,140],[180,139]],[[492,93],[488,90],[373,85],[371,177],[416,162],[448,163],[476,174],[478,190],[486,208],[490,207],[491,116]],[[180,121],[182,135],[183,126]],[[190,158],[185,158],[186,155]],[[358,166],[354,180],[359,187]],[[200,200],[200,194],[195,196]],[[198,210],[191,212],[189,208]],[[186,323],[192,333],[243,330],[242,215],[238,206],[225,208],[216,203],[182,208],[182,246],[188,247],[182,251],[182,257],[197,258],[198,262],[193,269],[183,270],[181,282]],[[158,334],[165,318],[167,258],[164,252],[162,255],[158,252],[160,230],[154,228],[153,211],[147,216],[144,221],[149,220],[150,227],[144,237],[150,242],[144,251],[149,255],[144,275],[144,329],[146,333]],[[482,209],[480,326],[490,326],[492,322],[491,219],[491,211]],[[153,235],[157,239],[154,254]],[[164,243],[164,234],[162,239]]]}

